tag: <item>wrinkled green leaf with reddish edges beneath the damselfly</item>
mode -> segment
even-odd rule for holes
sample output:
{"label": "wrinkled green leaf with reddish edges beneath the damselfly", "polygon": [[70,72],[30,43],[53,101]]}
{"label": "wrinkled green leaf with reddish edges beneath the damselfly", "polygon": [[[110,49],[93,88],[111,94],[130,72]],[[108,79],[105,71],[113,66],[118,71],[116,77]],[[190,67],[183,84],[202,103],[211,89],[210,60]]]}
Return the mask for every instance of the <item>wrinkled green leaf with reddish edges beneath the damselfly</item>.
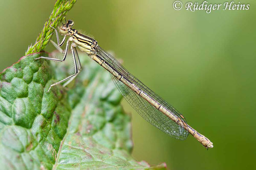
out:
{"label": "wrinkled green leaf with reddish edges beneath the damselfly", "polygon": [[165,169],[131,157],[131,119],[107,71],[80,54],[73,86],[47,93],[72,67],[34,61],[45,55],[22,57],[0,73],[0,169]]}

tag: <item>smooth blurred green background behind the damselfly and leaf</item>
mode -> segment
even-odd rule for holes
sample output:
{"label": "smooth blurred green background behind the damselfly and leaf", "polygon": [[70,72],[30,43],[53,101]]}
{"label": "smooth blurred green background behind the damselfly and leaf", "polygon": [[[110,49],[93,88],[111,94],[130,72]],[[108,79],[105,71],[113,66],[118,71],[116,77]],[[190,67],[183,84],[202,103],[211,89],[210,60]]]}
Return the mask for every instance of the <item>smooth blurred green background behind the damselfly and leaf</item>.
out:
{"label": "smooth blurred green background behind the damselfly and leaf", "polygon": [[[206,150],[191,135],[185,141],[173,139],[123,101],[132,114],[137,160],[166,162],[170,170],[255,169],[256,2],[240,1],[250,4],[248,11],[206,14],[175,11],[174,1],[78,0],[67,19],[114,51],[132,74],[214,144]],[[0,1],[0,70],[35,42],[54,3]]]}

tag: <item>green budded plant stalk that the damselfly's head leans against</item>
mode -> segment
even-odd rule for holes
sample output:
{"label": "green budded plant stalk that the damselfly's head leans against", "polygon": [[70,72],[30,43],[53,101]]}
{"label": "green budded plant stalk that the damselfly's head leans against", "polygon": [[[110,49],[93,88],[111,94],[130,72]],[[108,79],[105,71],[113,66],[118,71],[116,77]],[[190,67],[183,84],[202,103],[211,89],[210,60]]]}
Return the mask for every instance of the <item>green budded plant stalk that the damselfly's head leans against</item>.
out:
{"label": "green budded plant stalk that the damselfly's head leans against", "polygon": [[44,28],[38,35],[35,44],[29,46],[28,50],[26,51],[26,55],[43,51],[46,48],[54,31],[50,26],[57,27],[58,24],[60,24],[61,21],[64,20],[65,16],[67,15],[67,12],[73,7],[75,3],[76,0],[56,1],[52,14],[49,17],[49,20],[47,20],[44,24]]}

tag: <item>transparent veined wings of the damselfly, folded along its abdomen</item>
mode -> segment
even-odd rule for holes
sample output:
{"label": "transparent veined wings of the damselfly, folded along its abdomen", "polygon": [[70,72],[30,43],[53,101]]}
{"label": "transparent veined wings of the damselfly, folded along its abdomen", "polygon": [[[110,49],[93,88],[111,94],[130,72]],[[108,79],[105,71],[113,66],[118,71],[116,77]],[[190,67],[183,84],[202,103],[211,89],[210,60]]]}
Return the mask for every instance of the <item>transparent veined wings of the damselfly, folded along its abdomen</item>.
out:
{"label": "transparent veined wings of the damselfly, folded along its abdomen", "polygon": [[[186,123],[186,119],[171,105],[169,105],[166,101],[164,101],[160,96],[151,91],[148,87],[146,87],[139,79],[130,74],[113,56],[108,54],[108,52],[104,51],[102,48],[98,46],[97,48],[97,56],[104,59],[107,62],[107,66],[114,69],[119,74],[122,74],[123,77],[128,79],[131,83],[136,85],[140,90],[148,94],[152,100],[157,101],[163,107],[174,113],[178,116],[183,122]],[[110,69],[111,70],[111,69]],[[113,74],[111,74],[114,84],[116,88],[120,91],[120,93],[124,96],[127,102],[149,123],[167,133],[168,135],[184,140],[188,136],[188,131],[185,130],[180,125],[177,125],[172,119],[163,114],[157,108],[152,106],[147,100],[143,99],[136,92],[134,92],[131,88],[125,85],[123,82],[116,79]]]}

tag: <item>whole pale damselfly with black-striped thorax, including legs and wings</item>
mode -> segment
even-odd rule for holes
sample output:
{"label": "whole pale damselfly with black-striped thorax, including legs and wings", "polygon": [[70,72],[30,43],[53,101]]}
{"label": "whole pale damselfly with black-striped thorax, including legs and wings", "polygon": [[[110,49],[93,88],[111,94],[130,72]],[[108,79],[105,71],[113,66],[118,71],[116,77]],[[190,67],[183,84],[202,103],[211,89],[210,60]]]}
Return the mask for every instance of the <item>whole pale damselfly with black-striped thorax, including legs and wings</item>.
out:
{"label": "whole pale damselfly with black-striped thorax, including legs and wings", "polygon": [[[49,90],[52,86],[58,85],[65,81],[67,81],[64,83],[64,86],[66,86],[77,76],[79,71],[81,71],[81,63],[76,50],[76,47],[78,47],[91,59],[110,72],[116,88],[118,88],[127,102],[149,123],[176,139],[186,139],[190,133],[207,149],[213,147],[213,144],[209,139],[198,133],[186,123],[186,119],[182,114],[180,114],[160,96],[155,94],[154,91],[151,91],[139,79],[130,74],[113,56],[104,51],[98,45],[96,40],[79,33],[76,29],[71,28],[73,25],[73,21],[68,20],[61,26],[60,33],[61,35],[64,35],[61,42],[59,42],[58,31],[52,27],[56,32],[59,47],[64,44],[65,40],[69,36],[63,59],[49,57],[37,58],[63,62],[67,57],[70,42],[72,42],[71,51],[75,64],[75,74],[52,84],[49,87]],[[78,61],[76,61],[76,58]]]}

